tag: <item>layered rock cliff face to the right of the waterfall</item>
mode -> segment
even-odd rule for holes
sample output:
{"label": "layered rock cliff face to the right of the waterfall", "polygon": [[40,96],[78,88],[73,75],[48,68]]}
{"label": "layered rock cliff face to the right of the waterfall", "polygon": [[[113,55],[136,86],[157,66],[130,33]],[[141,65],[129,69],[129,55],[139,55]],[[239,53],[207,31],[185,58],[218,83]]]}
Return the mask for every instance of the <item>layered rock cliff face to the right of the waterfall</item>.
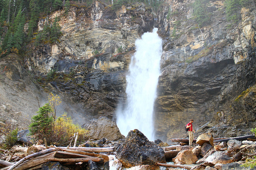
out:
{"label": "layered rock cliff face to the right of the waterfall", "polygon": [[[254,17],[250,10],[242,8],[242,22],[237,27],[228,28],[224,1],[210,2],[208,10],[213,17],[211,23],[199,29],[193,22],[192,8],[187,3],[170,0],[170,6],[158,14],[158,33],[164,39],[164,53],[155,104],[155,128],[158,138],[167,141],[186,137],[183,129],[190,119],[195,120],[194,129],[204,125],[199,131],[207,131],[220,123],[217,113],[221,110],[224,111],[223,117],[228,117],[223,124],[234,121],[229,114],[228,102],[252,86],[255,80],[255,73],[250,71],[255,69],[254,66],[242,66],[248,60],[254,61],[250,59],[254,57],[250,53],[255,47],[252,38],[255,32],[252,27]],[[250,72],[248,79],[251,80],[241,80],[245,72]],[[248,122],[246,117],[240,118],[240,121]],[[208,121],[212,122],[208,124]],[[244,129],[250,129],[249,126],[244,126]],[[247,131],[241,130],[241,127],[231,129],[219,133],[213,131],[215,135],[224,136],[229,136],[230,131],[233,135],[243,135]]]}

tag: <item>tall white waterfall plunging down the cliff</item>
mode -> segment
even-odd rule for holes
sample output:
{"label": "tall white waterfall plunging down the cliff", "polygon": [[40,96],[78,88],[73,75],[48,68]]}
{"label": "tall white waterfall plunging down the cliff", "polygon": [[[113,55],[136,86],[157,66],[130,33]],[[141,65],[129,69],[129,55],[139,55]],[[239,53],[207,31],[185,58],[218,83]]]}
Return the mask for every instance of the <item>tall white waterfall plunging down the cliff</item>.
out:
{"label": "tall white waterfall plunging down the cliff", "polygon": [[154,140],[153,110],[162,55],[162,39],[157,30],[136,40],[136,53],[126,76],[127,103],[116,111],[116,123],[123,135],[138,129],[150,141]]}

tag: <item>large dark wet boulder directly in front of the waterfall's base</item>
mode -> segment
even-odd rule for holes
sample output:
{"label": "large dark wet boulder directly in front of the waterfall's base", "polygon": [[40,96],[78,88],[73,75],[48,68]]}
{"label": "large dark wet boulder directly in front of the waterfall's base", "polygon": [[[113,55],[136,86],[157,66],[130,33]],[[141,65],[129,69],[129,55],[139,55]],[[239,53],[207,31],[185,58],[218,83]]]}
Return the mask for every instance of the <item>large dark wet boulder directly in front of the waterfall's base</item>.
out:
{"label": "large dark wet boulder directly in front of the waterfall's base", "polygon": [[148,141],[138,129],[128,133],[124,144],[116,150],[116,158],[122,162],[124,168],[138,165],[156,166],[157,162],[166,163],[164,150]]}

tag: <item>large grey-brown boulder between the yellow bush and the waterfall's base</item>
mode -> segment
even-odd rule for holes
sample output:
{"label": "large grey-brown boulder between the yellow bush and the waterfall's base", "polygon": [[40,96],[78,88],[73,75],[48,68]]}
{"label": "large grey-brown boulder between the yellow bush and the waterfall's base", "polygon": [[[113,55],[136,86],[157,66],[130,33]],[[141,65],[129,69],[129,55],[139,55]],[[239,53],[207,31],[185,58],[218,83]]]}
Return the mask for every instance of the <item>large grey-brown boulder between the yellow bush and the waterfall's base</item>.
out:
{"label": "large grey-brown boulder between the yellow bush and the waterfall's base", "polygon": [[82,125],[82,127],[90,131],[90,137],[94,139],[106,138],[109,141],[117,141],[118,139],[124,139],[116,125],[116,122],[107,117],[99,117],[98,119],[91,119],[88,123]]}

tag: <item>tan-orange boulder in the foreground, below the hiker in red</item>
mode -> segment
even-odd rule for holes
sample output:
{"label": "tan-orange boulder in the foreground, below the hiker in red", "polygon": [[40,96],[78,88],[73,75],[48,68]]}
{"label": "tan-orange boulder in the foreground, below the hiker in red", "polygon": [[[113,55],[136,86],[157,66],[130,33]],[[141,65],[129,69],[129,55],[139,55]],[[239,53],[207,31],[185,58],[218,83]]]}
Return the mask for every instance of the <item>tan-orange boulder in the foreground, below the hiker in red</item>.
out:
{"label": "tan-orange boulder in the foreground, below the hiker in red", "polygon": [[183,150],[178,153],[175,158],[172,158],[174,164],[194,164],[198,160],[192,150]]}

